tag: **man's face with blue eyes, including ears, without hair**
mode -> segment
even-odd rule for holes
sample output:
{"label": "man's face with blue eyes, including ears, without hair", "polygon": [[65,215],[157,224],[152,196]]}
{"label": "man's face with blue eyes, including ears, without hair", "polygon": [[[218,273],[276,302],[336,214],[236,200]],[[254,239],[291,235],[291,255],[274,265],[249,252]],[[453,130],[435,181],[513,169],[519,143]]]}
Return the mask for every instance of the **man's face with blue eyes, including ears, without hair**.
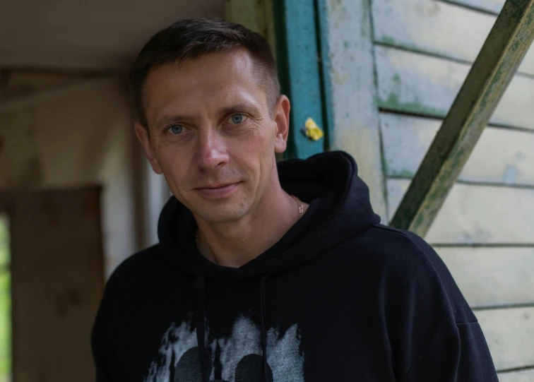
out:
{"label": "man's face with blue eyes, including ears, without hair", "polygon": [[136,134],[154,171],[196,217],[235,221],[277,184],[275,152],[285,150],[290,105],[281,96],[271,109],[247,52],[160,66],[144,100],[150,139],[139,124]]}

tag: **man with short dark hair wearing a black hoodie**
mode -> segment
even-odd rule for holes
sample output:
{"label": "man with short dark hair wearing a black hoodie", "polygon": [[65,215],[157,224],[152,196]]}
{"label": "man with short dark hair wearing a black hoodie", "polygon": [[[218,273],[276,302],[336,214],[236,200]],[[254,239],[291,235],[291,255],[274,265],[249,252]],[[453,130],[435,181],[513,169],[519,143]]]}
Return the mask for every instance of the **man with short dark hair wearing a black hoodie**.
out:
{"label": "man with short dark hair wearing a black hoodie", "polygon": [[432,248],[379,224],[341,152],[275,162],[290,101],[266,40],[158,32],[131,71],[136,135],[172,190],[93,329],[98,381],[497,381]]}

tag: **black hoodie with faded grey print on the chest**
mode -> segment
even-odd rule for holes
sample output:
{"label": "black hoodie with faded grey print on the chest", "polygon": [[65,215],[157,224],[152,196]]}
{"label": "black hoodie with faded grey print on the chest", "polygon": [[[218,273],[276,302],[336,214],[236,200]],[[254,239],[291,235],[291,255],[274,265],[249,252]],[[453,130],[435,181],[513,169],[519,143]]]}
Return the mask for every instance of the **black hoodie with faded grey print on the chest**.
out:
{"label": "black hoodie with faded grey print on the chest", "polygon": [[170,199],[160,244],[107,282],[97,381],[497,381],[449,270],[420,237],[379,224],[350,155],[278,172],[310,207],[240,268],[201,256],[191,212]]}

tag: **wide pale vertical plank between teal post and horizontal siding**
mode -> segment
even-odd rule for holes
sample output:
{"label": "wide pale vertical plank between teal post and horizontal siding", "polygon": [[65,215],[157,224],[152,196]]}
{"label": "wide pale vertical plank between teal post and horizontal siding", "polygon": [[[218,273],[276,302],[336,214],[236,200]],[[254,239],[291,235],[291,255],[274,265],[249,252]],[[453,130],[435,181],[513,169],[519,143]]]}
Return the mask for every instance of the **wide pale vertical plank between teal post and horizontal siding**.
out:
{"label": "wide pale vertical plank between teal post and horizontal siding", "polygon": [[371,203],[385,221],[378,107],[374,84],[372,30],[368,0],[327,2],[328,47],[334,136],[332,150],[355,157]]}

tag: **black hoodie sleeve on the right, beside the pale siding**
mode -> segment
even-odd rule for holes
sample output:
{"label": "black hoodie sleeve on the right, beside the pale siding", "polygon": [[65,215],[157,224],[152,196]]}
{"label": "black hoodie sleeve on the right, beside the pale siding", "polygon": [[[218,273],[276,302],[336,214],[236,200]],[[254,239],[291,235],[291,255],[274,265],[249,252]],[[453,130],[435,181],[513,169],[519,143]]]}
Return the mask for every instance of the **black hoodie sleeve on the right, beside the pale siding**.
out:
{"label": "black hoodie sleeve on the right, beside the pale siding", "polygon": [[[386,321],[399,382],[498,382],[477,318],[437,253],[399,232]],[[394,269],[393,269],[394,268]]]}

